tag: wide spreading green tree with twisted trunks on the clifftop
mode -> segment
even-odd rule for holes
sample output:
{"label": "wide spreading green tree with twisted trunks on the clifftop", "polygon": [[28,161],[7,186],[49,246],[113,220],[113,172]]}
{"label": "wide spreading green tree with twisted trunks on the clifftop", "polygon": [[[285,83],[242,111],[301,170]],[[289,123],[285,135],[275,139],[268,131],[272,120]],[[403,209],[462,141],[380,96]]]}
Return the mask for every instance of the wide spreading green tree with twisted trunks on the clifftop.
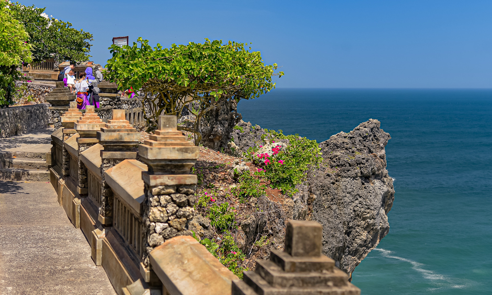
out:
{"label": "wide spreading green tree with twisted trunks on the clifftop", "polygon": [[202,118],[221,101],[259,97],[275,88],[272,76],[283,75],[274,73],[276,63],[266,65],[260,52],[246,49],[245,43],[205,39],[203,44],[152,48],[141,37],[137,42],[140,46],[134,42],[109,48],[113,57],[106,65],[105,78],[116,82],[120,90],[133,87],[146,93],[148,131],[155,130],[159,115],[179,118],[187,103],[199,102],[199,109],[189,110],[196,116],[194,126],[178,127],[194,132],[196,145],[202,139]]}

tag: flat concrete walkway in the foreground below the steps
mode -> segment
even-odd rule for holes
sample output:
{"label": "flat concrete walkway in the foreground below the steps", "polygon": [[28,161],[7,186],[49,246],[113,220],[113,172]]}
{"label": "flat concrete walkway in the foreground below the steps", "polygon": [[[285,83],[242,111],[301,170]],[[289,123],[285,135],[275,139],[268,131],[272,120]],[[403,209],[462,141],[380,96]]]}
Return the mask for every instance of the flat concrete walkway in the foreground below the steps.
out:
{"label": "flat concrete walkway in the foreground below the steps", "polygon": [[116,294],[50,183],[0,181],[0,294]]}

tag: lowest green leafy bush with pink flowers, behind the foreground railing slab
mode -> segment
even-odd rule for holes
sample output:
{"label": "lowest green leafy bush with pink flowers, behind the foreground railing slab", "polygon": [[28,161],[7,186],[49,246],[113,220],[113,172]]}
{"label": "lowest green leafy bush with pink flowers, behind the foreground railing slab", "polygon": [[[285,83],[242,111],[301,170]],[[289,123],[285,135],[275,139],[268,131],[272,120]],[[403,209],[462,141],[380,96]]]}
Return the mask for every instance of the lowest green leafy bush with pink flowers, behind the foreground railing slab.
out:
{"label": "lowest green leafy bush with pink flowers, behind the foreground railing slab", "polygon": [[211,241],[208,238],[204,238],[200,241],[202,245],[207,247],[210,253],[212,253],[221,264],[229,268],[240,279],[243,278],[243,270],[248,270],[245,267],[240,267],[238,264],[245,260],[245,255],[239,249],[233,236],[230,233],[226,233],[222,236],[219,243]]}

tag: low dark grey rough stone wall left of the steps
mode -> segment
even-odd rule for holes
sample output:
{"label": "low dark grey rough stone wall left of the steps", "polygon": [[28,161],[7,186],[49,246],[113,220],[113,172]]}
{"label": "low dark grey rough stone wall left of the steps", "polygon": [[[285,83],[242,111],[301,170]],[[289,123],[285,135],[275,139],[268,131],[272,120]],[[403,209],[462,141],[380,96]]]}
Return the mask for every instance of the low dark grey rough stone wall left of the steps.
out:
{"label": "low dark grey rough stone wall left of the steps", "polygon": [[10,137],[49,126],[48,104],[0,109],[0,137]]}

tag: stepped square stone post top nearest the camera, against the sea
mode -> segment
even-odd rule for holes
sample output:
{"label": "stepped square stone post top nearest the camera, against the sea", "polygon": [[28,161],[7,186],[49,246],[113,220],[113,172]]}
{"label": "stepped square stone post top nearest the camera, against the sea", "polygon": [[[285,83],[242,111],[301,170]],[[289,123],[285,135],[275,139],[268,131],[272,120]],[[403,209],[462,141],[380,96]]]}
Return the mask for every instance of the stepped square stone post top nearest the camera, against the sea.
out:
{"label": "stepped square stone post top nearest the camera, against the sea", "polygon": [[257,260],[255,271],[232,282],[232,295],[360,295],[335,261],[321,254],[323,227],[314,221],[290,220],[284,251],[270,261]]}

